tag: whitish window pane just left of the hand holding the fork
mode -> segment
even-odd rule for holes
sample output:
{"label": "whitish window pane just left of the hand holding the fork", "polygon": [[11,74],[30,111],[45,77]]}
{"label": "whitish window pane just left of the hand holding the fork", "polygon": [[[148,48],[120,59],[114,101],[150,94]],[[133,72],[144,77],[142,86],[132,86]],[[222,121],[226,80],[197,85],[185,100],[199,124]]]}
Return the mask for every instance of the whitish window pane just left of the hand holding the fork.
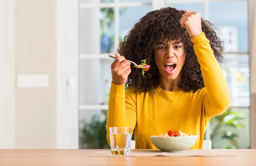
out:
{"label": "whitish window pane just left of the hand holding the fork", "polygon": [[[109,59],[82,59],[79,72],[79,104],[108,104],[112,81]],[[90,72],[88,71],[90,70]]]}

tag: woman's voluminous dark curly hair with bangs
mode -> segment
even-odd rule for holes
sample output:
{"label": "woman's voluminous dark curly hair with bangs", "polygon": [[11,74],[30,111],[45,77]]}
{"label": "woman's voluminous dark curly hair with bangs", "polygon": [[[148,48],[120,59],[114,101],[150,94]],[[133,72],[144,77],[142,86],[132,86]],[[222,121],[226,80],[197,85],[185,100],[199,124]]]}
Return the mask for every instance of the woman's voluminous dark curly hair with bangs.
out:
{"label": "woman's voluminous dark curly hair with bangs", "polygon": [[[154,49],[157,42],[165,37],[181,39],[184,43],[186,59],[181,70],[181,79],[178,87],[186,92],[196,91],[204,87],[204,80],[201,74],[191,37],[185,28],[180,25],[180,18],[185,12],[175,8],[166,7],[160,10],[148,12],[124,37],[117,52],[127,60],[137,64],[146,59],[150,69],[142,76],[141,69],[131,67],[131,73],[126,82],[126,88],[133,86],[135,92],[151,92],[157,87],[159,71],[154,62]],[[217,36],[217,29],[207,20],[201,18],[202,31],[210,41],[213,53],[220,63],[223,60],[223,42]]]}

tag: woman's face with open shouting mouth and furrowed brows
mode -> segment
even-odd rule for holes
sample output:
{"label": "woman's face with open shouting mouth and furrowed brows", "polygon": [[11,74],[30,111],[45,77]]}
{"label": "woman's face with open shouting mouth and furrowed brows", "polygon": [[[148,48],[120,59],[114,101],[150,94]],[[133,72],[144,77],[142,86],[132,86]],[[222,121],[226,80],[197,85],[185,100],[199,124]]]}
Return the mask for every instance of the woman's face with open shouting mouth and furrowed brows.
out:
{"label": "woman's face with open shouting mouth and furrowed brows", "polygon": [[185,51],[180,40],[168,39],[167,37],[157,43],[154,49],[154,60],[160,72],[160,77],[165,80],[175,80],[185,63]]}

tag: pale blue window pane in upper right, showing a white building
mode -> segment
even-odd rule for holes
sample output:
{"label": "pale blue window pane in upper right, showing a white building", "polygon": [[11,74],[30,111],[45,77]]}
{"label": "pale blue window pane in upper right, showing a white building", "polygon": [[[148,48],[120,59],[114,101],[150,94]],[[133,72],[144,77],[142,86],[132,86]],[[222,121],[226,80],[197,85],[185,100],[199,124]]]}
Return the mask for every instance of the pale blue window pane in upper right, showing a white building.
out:
{"label": "pale blue window pane in upper right, showing a white building", "polygon": [[248,2],[228,1],[209,3],[209,21],[223,27],[226,52],[248,52]]}

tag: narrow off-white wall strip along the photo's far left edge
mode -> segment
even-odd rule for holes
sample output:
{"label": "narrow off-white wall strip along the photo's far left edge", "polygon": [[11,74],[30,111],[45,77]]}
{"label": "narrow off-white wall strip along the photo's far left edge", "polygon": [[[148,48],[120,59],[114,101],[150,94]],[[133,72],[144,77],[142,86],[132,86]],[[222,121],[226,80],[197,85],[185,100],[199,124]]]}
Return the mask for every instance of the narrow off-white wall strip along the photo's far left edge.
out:
{"label": "narrow off-white wall strip along the photo's far left edge", "polygon": [[0,0],[0,149],[15,148],[15,0]]}

